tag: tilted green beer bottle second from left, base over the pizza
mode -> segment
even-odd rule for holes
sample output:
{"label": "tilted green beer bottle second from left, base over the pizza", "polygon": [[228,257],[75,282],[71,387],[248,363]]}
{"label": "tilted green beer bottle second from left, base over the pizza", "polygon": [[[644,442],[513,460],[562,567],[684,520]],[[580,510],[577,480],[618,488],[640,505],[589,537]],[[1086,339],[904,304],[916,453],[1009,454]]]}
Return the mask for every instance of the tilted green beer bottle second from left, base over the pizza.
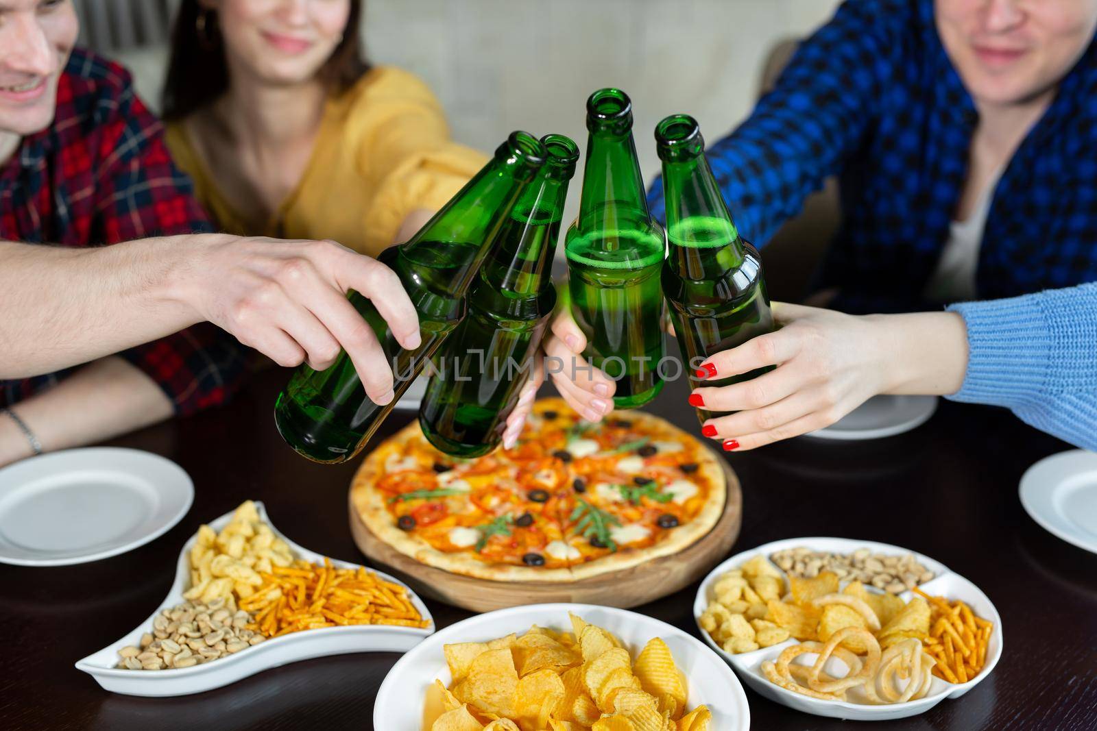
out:
{"label": "tilted green beer bottle second from left, base over the pizza", "polygon": [[423,434],[451,455],[479,457],[499,445],[556,304],[550,274],[579,148],[563,135],[541,142],[545,164],[496,235],[419,409]]}

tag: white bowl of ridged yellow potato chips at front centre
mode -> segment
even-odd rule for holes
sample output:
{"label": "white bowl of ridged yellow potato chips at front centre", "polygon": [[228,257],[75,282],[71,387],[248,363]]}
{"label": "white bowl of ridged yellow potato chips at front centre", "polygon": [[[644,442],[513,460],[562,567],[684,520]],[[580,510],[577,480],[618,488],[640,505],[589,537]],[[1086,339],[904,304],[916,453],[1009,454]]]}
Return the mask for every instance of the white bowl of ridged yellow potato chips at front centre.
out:
{"label": "white bowl of ridged yellow potato chips at front centre", "polygon": [[374,704],[385,731],[736,731],[735,674],[633,612],[534,604],[471,617],[400,658]]}

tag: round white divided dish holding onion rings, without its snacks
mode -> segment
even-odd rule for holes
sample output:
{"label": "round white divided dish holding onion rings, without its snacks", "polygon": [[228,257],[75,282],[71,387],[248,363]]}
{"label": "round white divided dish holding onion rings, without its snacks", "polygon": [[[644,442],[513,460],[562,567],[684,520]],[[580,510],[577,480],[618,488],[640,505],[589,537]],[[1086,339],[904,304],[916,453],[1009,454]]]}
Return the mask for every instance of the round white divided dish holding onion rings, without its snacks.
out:
{"label": "round white divided dish holding onion rings, without its snacks", "polygon": [[[828,551],[832,553],[851,553],[858,548],[869,548],[873,553],[894,556],[914,553],[914,557],[921,563],[921,566],[937,574],[932,580],[920,585],[921,591],[930,595],[943,596],[949,599],[963,599],[968,603],[976,616],[994,623],[994,630],[991,632],[991,641],[986,648],[986,664],[982,672],[966,683],[958,685],[953,685],[934,676],[929,693],[926,694],[924,698],[905,704],[867,706],[855,703],[810,698],[805,695],[787,690],[770,683],[761,672],[761,663],[766,660],[776,660],[784,648],[798,644],[798,640],[790,639],[781,642],[780,644],[761,648],[760,650],[755,650],[754,652],[743,652],[739,654],[724,652],[724,650],[716,644],[715,641],[713,641],[712,637],[709,636],[709,632],[704,631],[700,623],[701,613],[703,613],[704,608],[709,606],[709,602],[715,598],[712,587],[716,583],[716,580],[727,571],[742,566],[745,561],[748,561],[755,556],[760,555],[769,557],[776,551],[784,550],[787,548],[796,548],[799,546],[805,546],[812,550]],[[842,582],[842,587],[845,587],[845,584],[846,582]],[[869,591],[878,591],[871,586],[868,589]],[[903,601],[909,601],[912,592],[904,592],[903,594],[900,594],[900,596]],[[771,544],[766,544],[765,546],[759,546],[758,548],[753,548],[749,551],[744,551],[737,556],[733,556],[713,569],[712,573],[705,576],[704,581],[701,582],[701,586],[697,592],[697,598],[693,602],[693,618],[698,623],[698,631],[701,632],[701,636],[704,638],[705,642],[709,643],[709,647],[715,650],[720,656],[727,661],[727,663],[735,669],[735,672],[738,673],[739,677],[742,677],[743,681],[759,695],[762,695],[766,698],[774,700],[783,706],[788,706],[789,708],[795,708],[796,710],[805,713],[827,716],[829,718],[885,721],[889,719],[907,718],[908,716],[924,713],[945,698],[959,698],[975,685],[982,683],[983,679],[994,670],[994,666],[998,664],[998,659],[1002,656],[1002,617],[998,616],[998,610],[994,608],[993,604],[991,604],[991,599],[986,598],[986,595],[981,592],[975,584],[971,583],[960,574],[953,573],[948,569],[948,567],[927,556],[906,550],[905,548],[900,548],[898,546],[878,544],[871,540],[852,540],[849,538],[789,538],[787,540],[777,540]],[[804,661],[808,661],[814,660],[816,655],[803,654],[800,658]],[[837,663],[837,661],[832,662]],[[838,667],[841,667],[841,665],[839,664]]]}

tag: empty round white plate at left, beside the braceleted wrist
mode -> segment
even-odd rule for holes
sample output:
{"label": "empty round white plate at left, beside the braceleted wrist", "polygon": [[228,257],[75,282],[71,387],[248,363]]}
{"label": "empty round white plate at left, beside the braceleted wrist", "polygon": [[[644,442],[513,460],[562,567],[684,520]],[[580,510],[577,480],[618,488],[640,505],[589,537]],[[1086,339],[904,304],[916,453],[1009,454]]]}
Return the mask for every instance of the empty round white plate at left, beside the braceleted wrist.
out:
{"label": "empty round white plate at left, beside the braceleted wrist", "polygon": [[194,483],[137,449],[91,447],[0,469],[0,563],[68,566],[117,556],[186,514]]}

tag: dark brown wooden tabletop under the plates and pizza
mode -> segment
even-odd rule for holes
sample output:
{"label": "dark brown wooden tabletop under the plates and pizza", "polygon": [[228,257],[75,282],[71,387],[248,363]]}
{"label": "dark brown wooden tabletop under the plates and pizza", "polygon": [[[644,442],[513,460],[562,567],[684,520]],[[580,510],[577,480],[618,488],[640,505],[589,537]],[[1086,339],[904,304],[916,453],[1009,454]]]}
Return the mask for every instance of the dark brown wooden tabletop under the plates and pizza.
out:
{"label": "dark brown wooden tabletop under the plates and pizza", "polygon": [[[194,479],[193,507],[165,536],[94,563],[0,567],[0,728],[372,727],[374,696],[396,654],[299,662],[202,695],[162,699],[108,693],[72,666],[151,614],[168,592],[183,542],[199,524],[246,499],[265,501],[271,519],[295,541],[363,560],[347,516],[355,465],[313,465],[282,443],[272,408],[285,378],[278,370],[261,374],[226,409],[113,443],[173,459]],[[686,393],[685,382],[668,385],[651,410],[695,429]],[[410,418],[396,412],[383,434]],[[864,443],[802,438],[733,455],[744,492],[734,550],[794,536],[881,540],[931,556],[986,592],[1005,630],[1005,654],[994,673],[959,700],[879,726],[1095,729],[1097,557],[1045,533],[1017,498],[1025,469],[1064,448],[1007,412],[942,402],[928,424],[902,436]],[[694,592],[691,586],[638,610],[695,633]],[[470,616],[437,603],[430,608],[440,627]],[[750,690],[747,697],[754,729],[844,726]]]}

